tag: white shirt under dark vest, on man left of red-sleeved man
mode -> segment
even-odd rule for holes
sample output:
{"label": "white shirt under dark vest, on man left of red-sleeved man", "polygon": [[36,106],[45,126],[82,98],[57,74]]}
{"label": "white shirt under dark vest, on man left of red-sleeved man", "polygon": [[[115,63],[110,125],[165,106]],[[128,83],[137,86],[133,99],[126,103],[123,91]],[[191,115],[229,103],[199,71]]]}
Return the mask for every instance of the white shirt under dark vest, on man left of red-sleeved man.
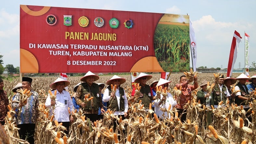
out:
{"label": "white shirt under dark vest, on man left of red-sleeved man", "polygon": [[[116,99],[117,99],[117,103],[118,103],[118,107],[120,109],[120,94],[119,94],[119,88],[116,89]],[[122,99],[122,98],[121,98]],[[104,94],[103,94],[103,98],[102,98],[102,101],[103,102],[108,102],[110,100],[110,95],[109,95],[109,89],[105,89],[104,91]],[[125,93],[125,90],[124,90],[124,111],[121,112],[121,111],[115,111],[114,112],[114,115],[124,115],[124,112],[127,113],[128,111],[128,101],[127,101],[127,97],[126,97],[126,93]]]}

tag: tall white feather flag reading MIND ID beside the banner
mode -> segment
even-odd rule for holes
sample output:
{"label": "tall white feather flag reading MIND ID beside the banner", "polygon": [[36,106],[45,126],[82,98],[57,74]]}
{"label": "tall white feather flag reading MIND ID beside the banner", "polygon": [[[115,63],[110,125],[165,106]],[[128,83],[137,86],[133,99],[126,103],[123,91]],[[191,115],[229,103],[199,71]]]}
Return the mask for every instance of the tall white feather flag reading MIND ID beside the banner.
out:
{"label": "tall white feather flag reading MIND ID beside the banner", "polygon": [[196,71],[196,65],[197,65],[197,42],[196,42],[196,36],[195,36],[195,30],[192,26],[192,21],[189,18],[189,37],[190,37],[190,53],[191,53],[191,59],[192,59],[192,66],[193,71]]}

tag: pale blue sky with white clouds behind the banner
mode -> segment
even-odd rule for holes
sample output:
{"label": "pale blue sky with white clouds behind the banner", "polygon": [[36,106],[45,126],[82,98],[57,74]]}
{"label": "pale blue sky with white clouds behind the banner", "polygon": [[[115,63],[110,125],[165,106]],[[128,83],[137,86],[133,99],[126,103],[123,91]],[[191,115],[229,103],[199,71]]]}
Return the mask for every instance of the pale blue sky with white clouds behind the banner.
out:
{"label": "pale blue sky with white clouds behind the banner", "polygon": [[[19,0],[0,5],[0,55],[3,66],[19,66],[19,5],[123,10],[189,15],[197,41],[197,66],[226,68],[234,31],[240,33],[234,68],[244,67],[244,32],[250,35],[249,62],[256,62],[256,1],[237,0]],[[190,64],[192,66],[192,64]]]}

